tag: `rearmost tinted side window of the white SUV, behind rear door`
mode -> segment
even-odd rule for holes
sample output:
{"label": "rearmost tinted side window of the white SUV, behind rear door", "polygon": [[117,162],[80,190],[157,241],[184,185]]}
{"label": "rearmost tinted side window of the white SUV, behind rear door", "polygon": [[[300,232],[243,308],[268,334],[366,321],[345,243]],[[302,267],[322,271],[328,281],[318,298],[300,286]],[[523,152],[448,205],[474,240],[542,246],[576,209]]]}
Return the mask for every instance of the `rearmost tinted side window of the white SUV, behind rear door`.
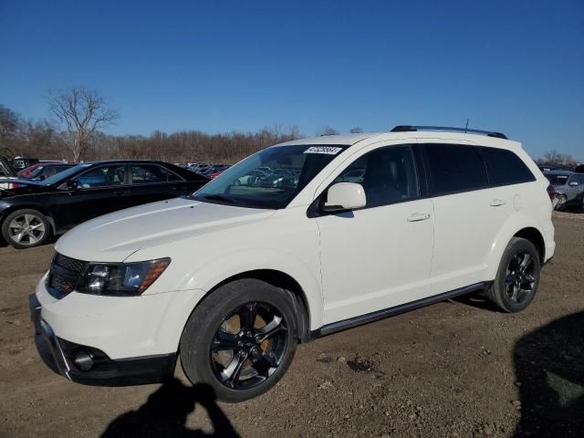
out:
{"label": "rearmost tinted side window of the white SUV, behind rear door", "polygon": [[485,160],[491,185],[509,185],[536,181],[525,162],[512,151],[497,148],[478,148]]}

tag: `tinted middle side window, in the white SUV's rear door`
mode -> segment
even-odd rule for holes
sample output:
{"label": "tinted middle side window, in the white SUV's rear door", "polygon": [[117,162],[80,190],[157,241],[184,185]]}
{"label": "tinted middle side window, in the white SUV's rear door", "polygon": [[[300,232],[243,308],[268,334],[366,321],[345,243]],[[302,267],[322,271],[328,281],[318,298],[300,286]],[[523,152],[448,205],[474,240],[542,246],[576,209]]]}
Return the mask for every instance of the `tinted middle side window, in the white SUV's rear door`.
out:
{"label": "tinted middle side window, in the white SUV's rear door", "polygon": [[427,144],[433,194],[465,192],[488,185],[485,163],[471,146]]}

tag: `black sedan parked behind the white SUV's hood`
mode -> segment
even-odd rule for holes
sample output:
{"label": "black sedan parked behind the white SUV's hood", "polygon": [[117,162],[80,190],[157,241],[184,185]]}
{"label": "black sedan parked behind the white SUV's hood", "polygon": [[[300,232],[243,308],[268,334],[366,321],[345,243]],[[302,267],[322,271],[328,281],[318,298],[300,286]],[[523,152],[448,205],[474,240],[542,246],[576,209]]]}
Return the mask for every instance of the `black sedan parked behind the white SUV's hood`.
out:
{"label": "black sedan parked behind the white SUV's hood", "polygon": [[101,214],[193,193],[208,181],[150,161],[87,162],[43,181],[13,180],[17,188],[0,190],[2,235],[15,248],[42,245]]}

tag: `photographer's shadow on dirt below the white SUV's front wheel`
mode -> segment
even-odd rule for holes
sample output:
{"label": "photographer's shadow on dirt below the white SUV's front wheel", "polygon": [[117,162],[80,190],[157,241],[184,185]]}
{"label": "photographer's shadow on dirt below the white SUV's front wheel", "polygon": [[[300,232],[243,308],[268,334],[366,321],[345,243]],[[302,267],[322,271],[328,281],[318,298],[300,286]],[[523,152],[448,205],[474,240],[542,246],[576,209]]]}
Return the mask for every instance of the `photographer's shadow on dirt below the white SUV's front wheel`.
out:
{"label": "photographer's shadow on dirt below the white SUV's front wheel", "polygon": [[[172,379],[153,392],[140,408],[124,412],[110,422],[101,438],[238,437],[239,434],[215,400],[215,393],[207,384],[187,387],[178,379]],[[213,433],[186,427],[187,416],[194,412],[197,403],[207,412],[213,424]]]}

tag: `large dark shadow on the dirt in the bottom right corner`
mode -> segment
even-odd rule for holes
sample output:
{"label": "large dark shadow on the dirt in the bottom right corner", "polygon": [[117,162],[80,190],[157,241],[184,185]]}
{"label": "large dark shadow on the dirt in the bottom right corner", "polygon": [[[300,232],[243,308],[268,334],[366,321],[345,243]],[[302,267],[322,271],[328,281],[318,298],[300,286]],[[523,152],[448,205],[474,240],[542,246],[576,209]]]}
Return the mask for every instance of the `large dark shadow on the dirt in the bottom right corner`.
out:
{"label": "large dark shadow on the dirt in the bottom right corner", "polygon": [[520,385],[516,437],[584,433],[584,311],[558,318],[516,343]]}

